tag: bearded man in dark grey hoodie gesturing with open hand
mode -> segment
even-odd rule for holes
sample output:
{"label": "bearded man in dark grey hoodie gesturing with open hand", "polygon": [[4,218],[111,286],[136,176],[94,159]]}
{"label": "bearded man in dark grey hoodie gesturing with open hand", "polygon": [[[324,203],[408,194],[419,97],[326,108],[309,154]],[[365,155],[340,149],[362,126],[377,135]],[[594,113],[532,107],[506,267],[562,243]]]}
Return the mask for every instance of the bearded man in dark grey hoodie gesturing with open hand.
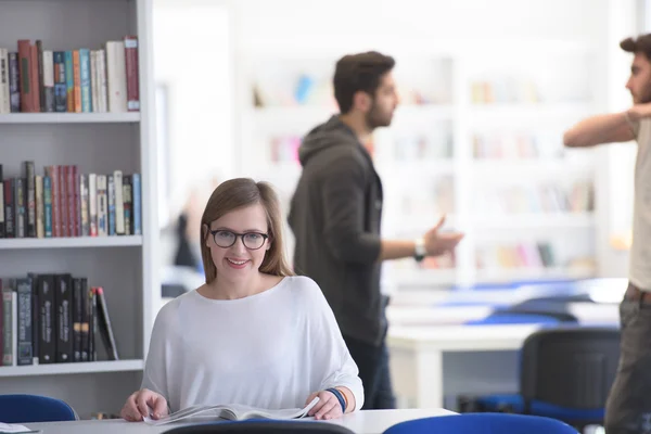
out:
{"label": "bearded man in dark grey hoodie gesturing with open hand", "polygon": [[294,269],[326,295],[365,388],[365,409],[394,408],[385,346],[387,299],[381,263],[436,256],[455,248],[461,233],[442,233],[443,218],[417,240],[380,234],[382,182],[365,148],[378,127],[391,125],[398,103],[393,58],[345,55],[335,67],[340,114],[314,128],[299,148],[303,174],[291,202]]}

